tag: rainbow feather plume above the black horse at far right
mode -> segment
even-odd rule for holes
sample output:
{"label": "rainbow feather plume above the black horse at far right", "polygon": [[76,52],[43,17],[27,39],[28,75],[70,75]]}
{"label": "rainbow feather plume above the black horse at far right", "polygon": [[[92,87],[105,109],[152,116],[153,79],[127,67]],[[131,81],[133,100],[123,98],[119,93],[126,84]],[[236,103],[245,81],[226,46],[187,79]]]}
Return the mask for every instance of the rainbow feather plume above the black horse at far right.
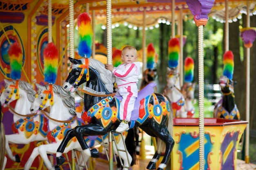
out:
{"label": "rainbow feather plume above the black horse at far right", "polygon": [[223,56],[223,75],[227,76],[229,79],[233,79],[234,72],[234,55],[232,51],[226,51]]}

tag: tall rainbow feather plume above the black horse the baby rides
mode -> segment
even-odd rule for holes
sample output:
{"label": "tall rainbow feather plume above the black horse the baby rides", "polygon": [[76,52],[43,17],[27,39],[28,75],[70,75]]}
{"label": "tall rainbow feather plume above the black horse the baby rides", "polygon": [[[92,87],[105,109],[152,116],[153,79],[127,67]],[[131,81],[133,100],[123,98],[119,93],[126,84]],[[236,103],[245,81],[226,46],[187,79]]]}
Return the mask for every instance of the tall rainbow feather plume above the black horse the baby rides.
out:
{"label": "tall rainbow feather plume above the black horse the baby rides", "polygon": [[92,25],[87,13],[81,13],[77,19],[79,45],[78,53],[81,57],[90,58],[92,54]]}

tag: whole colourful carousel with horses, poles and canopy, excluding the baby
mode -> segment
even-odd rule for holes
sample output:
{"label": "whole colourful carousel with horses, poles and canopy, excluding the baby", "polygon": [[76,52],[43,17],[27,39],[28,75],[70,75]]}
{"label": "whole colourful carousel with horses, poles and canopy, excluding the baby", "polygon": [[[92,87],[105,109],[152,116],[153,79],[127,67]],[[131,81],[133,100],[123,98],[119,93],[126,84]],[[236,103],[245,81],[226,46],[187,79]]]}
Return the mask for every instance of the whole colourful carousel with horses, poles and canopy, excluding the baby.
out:
{"label": "whole colourful carousel with horses, poles and canopy, excluding the baby", "polygon": [[[234,55],[225,22],[242,12],[254,14],[255,5],[252,0],[0,0],[0,152],[5,153],[0,169],[240,170],[237,152],[243,134],[243,164],[256,168],[249,161],[249,109],[246,120],[240,120],[234,100]],[[240,29],[247,62],[256,38],[250,15]],[[195,63],[183,58],[184,16],[198,27],[199,117]],[[225,54],[222,97],[214,117],[204,118],[203,28],[209,17],[225,22]],[[146,28],[159,20],[174,23],[163,91],[155,83],[158,54],[145,40]],[[112,24],[124,22],[142,28],[142,49],[137,49],[142,80],[130,129],[118,133],[121,98],[104,65],[121,64],[121,49],[112,46]],[[106,26],[106,46],[95,40],[99,23]],[[249,99],[249,71],[247,77]],[[136,155],[138,130],[153,141],[151,158],[146,158],[143,135]]]}

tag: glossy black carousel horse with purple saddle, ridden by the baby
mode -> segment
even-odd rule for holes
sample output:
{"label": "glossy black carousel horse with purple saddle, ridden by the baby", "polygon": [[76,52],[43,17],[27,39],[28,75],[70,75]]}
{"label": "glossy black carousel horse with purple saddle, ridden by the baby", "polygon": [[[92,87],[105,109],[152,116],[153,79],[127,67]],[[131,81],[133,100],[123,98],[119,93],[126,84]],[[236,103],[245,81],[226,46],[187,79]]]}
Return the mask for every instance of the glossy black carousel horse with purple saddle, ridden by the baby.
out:
{"label": "glossy black carousel horse with purple saddle, ridden by the baby", "polygon": [[[121,122],[119,118],[119,105],[121,98],[113,92],[112,73],[105,69],[104,64],[94,59],[73,59],[69,75],[63,84],[66,91],[74,92],[86,82],[84,107],[82,117],[90,124],[76,126],[68,130],[61,145],[57,149],[57,164],[64,163],[65,158],[58,156],[65,150],[72,137],[76,137],[85,154],[98,157],[97,153],[91,153],[88,145],[83,140],[84,136],[105,135],[115,131]],[[168,97],[153,93],[153,86],[149,84],[138,94],[135,107],[132,111],[130,128],[140,127],[148,135],[157,137],[157,150],[147,169],[156,169],[156,162],[164,152],[162,162],[157,170],[164,170],[171,156],[174,140],[171,136],[173,130],[173,111]]]}

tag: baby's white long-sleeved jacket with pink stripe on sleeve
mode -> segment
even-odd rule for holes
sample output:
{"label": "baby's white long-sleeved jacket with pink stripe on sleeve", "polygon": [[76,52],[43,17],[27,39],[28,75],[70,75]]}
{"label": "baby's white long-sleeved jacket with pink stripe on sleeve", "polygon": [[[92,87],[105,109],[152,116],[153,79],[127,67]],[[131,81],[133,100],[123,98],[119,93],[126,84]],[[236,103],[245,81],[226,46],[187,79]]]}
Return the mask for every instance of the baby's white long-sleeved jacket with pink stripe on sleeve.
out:
{"label": "baby's white long-sleeved jacket with pink stripe on sleeve", "polygon": [[139,68],[139,62],[133,62],[127,65],[121,64],[118,67],[115,67],[112,73],[116,77],[118,88],[137,84],[139,78]]}

